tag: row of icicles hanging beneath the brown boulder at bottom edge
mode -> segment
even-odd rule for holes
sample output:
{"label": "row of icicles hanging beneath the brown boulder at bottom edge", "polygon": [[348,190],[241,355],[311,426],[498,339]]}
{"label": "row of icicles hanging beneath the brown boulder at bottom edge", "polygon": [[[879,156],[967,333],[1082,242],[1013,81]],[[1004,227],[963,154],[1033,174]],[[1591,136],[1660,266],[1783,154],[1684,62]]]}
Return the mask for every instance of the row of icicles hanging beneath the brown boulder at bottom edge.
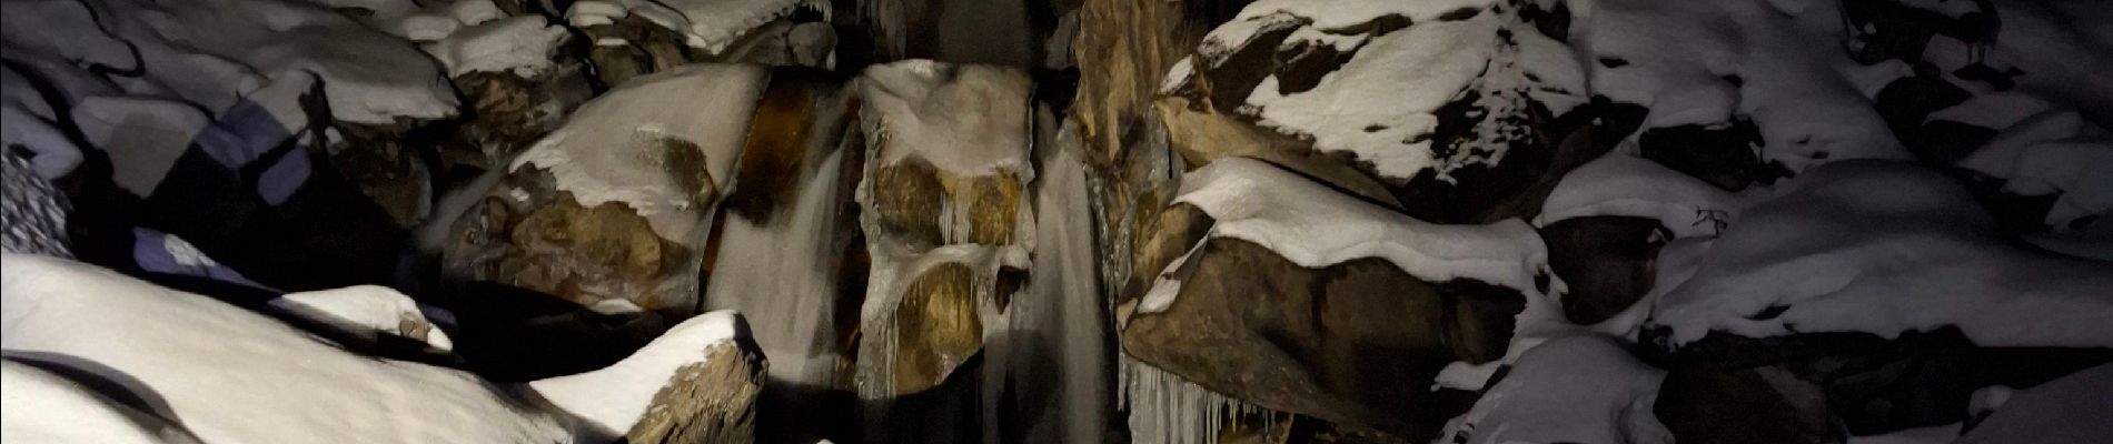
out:
{"label": "row of icicles hanging beneath the brown boulder at bottom edge", "polygon": [[[1122,406],[1130,412],[1130,442],[1137,444],[1217,444],[1226,425],[1261,415],[1264,436],[1278,436],[1289,423],[1278,423],[1261,406],[1247,404],[1173,372],[1122,356]],[[1228,423],[1228,419],[1232,419]]]}

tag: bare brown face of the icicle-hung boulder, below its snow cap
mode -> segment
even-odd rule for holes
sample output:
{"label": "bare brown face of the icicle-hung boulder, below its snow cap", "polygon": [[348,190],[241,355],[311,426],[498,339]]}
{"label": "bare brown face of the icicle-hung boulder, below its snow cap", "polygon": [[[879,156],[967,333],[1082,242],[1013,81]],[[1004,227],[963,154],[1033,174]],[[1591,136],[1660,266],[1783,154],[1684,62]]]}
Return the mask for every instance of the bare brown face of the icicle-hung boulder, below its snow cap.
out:
{"label": "bare brown face of the icicle-hung boulder, below its snow cap", "polygon": [[[1200,238],[1198,225],[1211,223],[1173,206],[1137,269],[1166,267],[1173,240]],[[1407,438],[1437,436],[1466,410],[1437,398],[1433,377],[1456,360],[1502,358],[1526,303],[1473,280],[1424,282],[1384,259],[1306,269],[1232,238],[1207,238],[1188,255],[1171,276],[1181,282],[1171,307],[1126,318],[1128,356],[1264,408]],[[1147,278],[1133,276],[1126,295],[1141,295]]]}

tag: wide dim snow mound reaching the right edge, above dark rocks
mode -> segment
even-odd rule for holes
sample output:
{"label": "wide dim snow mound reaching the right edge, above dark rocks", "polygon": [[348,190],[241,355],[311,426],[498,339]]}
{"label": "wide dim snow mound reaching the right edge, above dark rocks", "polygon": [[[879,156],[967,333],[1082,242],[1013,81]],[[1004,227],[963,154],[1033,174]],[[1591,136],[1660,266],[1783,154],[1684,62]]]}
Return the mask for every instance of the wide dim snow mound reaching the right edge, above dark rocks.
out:
{"label": "wide dim snow mound reaching the right edge, above dark rocks", "polygon": [[[1952,179],[1900,162],[1834,162],[1747,208],[1669,290],[1676,343],[1959,326],[1982,347],[2113,347],[2113,265],[2020,248]],[[1760,316],[1781,309],[1777,316]]]}

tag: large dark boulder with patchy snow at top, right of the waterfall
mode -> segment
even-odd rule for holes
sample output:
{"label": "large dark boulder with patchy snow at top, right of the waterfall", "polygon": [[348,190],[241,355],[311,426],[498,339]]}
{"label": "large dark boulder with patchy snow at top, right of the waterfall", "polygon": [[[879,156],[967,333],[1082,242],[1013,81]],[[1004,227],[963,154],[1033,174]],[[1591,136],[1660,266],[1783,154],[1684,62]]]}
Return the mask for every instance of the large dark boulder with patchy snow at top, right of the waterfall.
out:
{"label": "large dark boulder with patchy snow at top, right of the waterfall", "polygon": [[1532,217],[1597,156],[1566,143],[1587,120],[1570,116],[1587,107],[1568,29],[1549,23],[1566,17],[1536,2],[1257,2],[1175,63],[1156,107],[1192,166],[1266,158],[1439,223]]}

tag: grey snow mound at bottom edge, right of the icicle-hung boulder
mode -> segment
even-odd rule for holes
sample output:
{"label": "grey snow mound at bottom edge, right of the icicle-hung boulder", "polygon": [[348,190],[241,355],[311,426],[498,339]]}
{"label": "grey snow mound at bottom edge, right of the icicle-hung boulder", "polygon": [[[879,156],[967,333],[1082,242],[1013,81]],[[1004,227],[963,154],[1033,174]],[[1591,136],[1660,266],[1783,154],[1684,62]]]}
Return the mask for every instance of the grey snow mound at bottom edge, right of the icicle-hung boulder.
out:
{"label": "grey snow mound at bottom edge, right of the icicle-hung boulder", "polygon": [[1650,410],[1663,379],[1665,370],[1635,360],[1614,339],[1549,339],[1447,423],[1445,436],[1462,444],[1669,444],[1671,431]]}

